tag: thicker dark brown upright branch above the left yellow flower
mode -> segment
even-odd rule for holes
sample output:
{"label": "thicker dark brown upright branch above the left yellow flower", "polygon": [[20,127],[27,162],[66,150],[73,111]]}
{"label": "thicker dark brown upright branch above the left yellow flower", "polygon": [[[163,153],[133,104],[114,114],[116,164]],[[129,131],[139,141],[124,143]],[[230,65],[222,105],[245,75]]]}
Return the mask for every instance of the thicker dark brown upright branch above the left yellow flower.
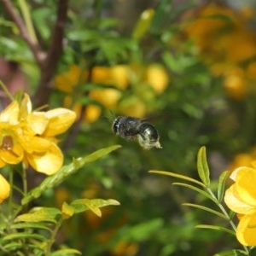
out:
{"label": "thicker dark brown upright branch above the left yellow flower", "polygon": [[67,20],[67,9],[69,0],[58,0],[57,18],[52,32],[52,40],[49,46],[47,57],[44,61],[42,76],[38,85],[38,90],[34,96],[36,106],[41,106],[49,102],[49,96],[53,88],[53,78],[58,61],[61,58],[63,49],[64,28]]}

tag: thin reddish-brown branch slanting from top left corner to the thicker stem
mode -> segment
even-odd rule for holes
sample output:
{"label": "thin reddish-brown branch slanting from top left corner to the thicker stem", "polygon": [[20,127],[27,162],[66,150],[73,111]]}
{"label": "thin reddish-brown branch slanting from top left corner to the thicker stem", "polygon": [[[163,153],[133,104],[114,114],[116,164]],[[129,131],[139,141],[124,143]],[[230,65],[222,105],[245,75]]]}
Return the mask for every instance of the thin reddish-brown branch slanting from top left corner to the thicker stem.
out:
{"label": "thin reddish-brown branch slanting from top left corner to the thicker stem", "polygon": [[21,19],[20,15],[15,11],[15,7],[12,4],[12,1],[9,0],[1,0],[7,13],[10,15],[12,20],[14,20],[15,24],[18,26],[20,31],[20,36],[26,41],[26,44],[30,47],[32,50],[32,53],[38,62],[38,66],[43,66],[44,61],[44,53],[40,50],[39,45],[37,42],[33,42],[32,38],[30,37],[29,33],[26,30],[26,26]]}

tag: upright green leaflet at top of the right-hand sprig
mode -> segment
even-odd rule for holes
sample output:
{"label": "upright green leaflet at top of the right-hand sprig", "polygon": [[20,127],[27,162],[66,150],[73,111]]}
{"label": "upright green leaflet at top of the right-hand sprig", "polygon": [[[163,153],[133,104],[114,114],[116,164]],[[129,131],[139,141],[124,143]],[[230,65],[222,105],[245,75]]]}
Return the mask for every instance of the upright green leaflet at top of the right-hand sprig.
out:
{"label": "upright green leaflet at top of the right-hand sprig", "polygon": [[209,187],[210,185],[210,172],[207,164],[207,149],[206,147],[201,147],[197,155],[197,171],[201,181]]}

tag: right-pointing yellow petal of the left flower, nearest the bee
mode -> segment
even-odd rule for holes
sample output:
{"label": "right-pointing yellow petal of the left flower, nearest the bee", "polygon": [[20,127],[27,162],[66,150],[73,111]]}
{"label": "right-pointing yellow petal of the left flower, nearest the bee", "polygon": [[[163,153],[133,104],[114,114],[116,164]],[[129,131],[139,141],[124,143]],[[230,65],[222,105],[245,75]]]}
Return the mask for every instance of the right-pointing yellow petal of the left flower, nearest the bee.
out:
{"label": "right-pointing yellow petal of the left flower, nearest the bee", "polygon": [[49,119],[49,125],[44,131],[44,137],[55,137],[67,131],[76,119],[76,113],[67,108],[49,110],[45,116]]}

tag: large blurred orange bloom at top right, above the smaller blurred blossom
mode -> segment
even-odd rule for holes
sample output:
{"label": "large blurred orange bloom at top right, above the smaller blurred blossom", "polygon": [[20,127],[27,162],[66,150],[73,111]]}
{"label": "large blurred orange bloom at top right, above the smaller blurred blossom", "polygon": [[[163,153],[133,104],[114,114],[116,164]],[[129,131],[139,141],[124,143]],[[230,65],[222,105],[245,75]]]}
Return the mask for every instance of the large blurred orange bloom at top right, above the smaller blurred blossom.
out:
{"label": "large blurred orange bloom at top right, above the smaller blurred blossom", "polygon": [[256,55],[256,35],[242,12],[209,3],[188,16],[184,32],[213,60],[239,62]]}

